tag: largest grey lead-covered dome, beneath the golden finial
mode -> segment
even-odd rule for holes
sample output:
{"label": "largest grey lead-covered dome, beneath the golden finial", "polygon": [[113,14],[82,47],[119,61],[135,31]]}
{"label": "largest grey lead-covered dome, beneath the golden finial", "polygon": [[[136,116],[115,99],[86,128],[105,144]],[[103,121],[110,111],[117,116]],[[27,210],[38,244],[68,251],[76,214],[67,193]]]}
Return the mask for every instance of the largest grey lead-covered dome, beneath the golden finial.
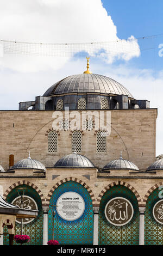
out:
{"label": "largest grey lead-covered dome, beneath the golden finial", "polygon": [[52,96],[66,93],[100,93],[110,95],[133,95],[112,78],[97,74],[79,74],[68,76],[53,84],[43,96]]}

